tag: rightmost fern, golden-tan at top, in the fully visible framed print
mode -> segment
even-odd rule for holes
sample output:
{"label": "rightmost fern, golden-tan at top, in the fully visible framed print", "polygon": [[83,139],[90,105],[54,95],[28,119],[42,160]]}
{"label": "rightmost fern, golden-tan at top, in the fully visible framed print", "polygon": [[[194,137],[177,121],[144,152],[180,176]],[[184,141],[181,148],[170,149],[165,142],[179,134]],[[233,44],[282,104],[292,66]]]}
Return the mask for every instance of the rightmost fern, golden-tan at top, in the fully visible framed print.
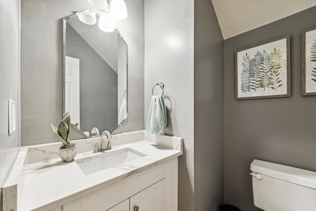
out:
{"label": "rightmost fern, golden-tan at top, in the fully visible framed print", "polygon": [[277,91],[278,87],[281,87],[283,84],[281,84],[282,79],[280,79],[279,75],[279,69],[282,67],[282,52],[280,49],[276,50],[274,48],[274,51],[270,53],[270,66],[271,71],[269,73],[270,77],[269,79],[271,80],[271,86],[270,88],[274,89]]}

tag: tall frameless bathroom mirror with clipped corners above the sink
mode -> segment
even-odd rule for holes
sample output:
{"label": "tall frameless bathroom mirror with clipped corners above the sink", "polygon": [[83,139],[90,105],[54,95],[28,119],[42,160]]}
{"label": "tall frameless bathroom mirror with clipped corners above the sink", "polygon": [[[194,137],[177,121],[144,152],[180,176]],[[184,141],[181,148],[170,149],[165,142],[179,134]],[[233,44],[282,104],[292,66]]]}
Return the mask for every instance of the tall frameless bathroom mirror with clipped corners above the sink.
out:
{"label": "tall frameless bathroom mirror with clipped corners above the sink", "polygon": [[128,48],[117,29],[106,32],[106,15],[86,9],[63,20],[63,111],[87,138],[127,118]]}

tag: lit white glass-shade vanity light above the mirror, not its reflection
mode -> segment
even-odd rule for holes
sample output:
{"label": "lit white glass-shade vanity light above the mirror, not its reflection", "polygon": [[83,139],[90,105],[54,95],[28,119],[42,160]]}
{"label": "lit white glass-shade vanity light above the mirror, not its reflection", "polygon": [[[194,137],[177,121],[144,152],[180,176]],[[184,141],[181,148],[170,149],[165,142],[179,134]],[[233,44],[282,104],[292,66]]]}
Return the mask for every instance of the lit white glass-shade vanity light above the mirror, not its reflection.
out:
{"label": "lit white glass-shade vanity light above the mirror, not its reflection", "polygon": [[118,20],[127,18],[127,9],[124,0],[87,0],[88,3],[105,13],[110,13]]}

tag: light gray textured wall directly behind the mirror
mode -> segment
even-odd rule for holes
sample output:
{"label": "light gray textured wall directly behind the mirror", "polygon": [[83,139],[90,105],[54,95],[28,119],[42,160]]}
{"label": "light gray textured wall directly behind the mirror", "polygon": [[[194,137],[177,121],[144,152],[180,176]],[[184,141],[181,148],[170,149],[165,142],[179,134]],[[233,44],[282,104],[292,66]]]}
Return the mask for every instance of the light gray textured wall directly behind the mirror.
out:
{"label": "light gray textured wall directly behind the mirror", "polygon": [[[116,21],[129,47],[129,116],[117,132],[144,129],[144,1],[126,1],[128,17]],[[62,118],[62,18],[94,10],[86,0],[21,1],[21,143],[58,142],[50,124]],[[34,135],[34,131],[40,131]]]}

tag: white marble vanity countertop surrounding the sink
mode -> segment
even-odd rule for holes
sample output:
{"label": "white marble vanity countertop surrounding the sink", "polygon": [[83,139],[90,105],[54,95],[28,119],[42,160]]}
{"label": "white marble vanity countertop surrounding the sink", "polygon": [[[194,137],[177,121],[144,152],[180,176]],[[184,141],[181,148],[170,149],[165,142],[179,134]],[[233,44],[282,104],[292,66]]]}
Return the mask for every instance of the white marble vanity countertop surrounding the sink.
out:
{"label": "white marble vanity countertop surrounding the sink", "polygon": [[[182,139],[172,138],[171,136],[158,137],[145,134],[143,140],[120,144],[109,151],[92,153],[91,150],[82,152],[77,154],[75,161],[71,163],[62,162],[60,158],[29,163],[23,191],[18,200],[18,210],[54,209],[128,176],[178,157],[183,154]],[[78,159],[98,154],[102,155],[102,153],[109,153],[123,148],[130,148],[147,156],[89,175],[85,175],[76,163]],[[29,152],[32,151],[30,149],[34,148],[29,148]],[[29,160],[32,160],[30,155]]]}

